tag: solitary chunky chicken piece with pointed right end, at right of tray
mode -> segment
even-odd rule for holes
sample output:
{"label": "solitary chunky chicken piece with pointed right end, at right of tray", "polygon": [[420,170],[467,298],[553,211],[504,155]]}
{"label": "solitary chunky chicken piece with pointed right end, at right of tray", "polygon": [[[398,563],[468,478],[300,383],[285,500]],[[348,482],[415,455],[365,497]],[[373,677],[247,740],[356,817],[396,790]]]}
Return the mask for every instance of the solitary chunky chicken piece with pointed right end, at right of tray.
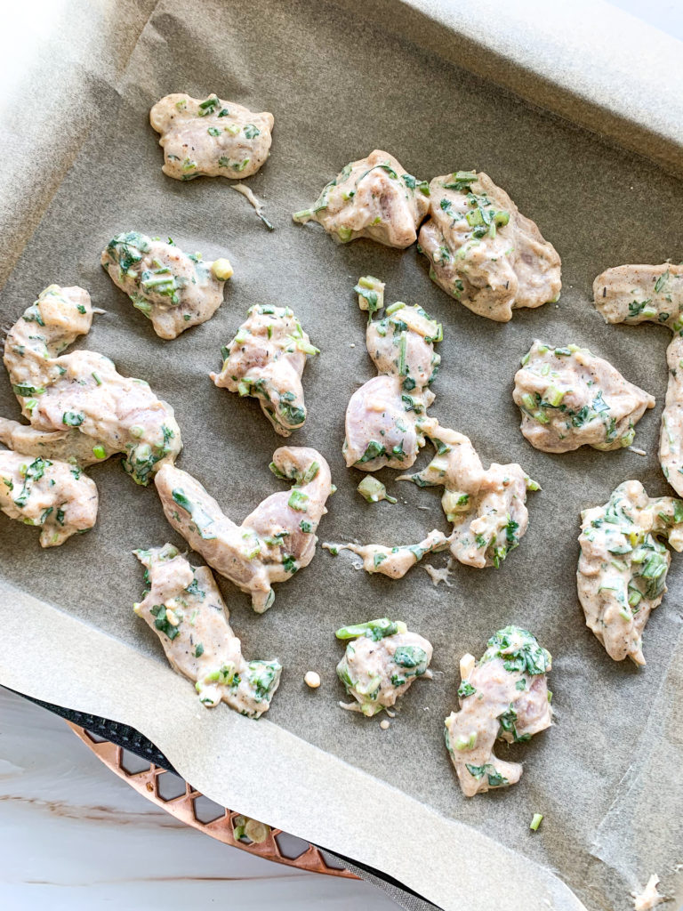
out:
{"label": "solitary chunky chicken piece with pointed right end, at right of tray", "polygon": [[522,433],[546,453],[629,446],[646,408],[655,406],[652,395],[587,348],[553,348],[538,340],[515,374],[513,398],[522,411]]}

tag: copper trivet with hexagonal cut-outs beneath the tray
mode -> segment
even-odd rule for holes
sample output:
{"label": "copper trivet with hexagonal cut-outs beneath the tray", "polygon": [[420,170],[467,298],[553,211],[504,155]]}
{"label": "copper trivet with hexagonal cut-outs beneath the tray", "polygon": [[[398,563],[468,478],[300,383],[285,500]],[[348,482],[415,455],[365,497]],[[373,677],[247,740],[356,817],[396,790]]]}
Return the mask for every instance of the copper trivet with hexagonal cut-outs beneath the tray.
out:
{"label": "copper trivet with hexagonal cut-outs beneath the tray", "polygon": [[[97,736],[86,728],[73,722],[66,722],[79,740],[94,752],[97,759],[108,769],[127,782],[135,791],[147,797],[152,804],[165,810],[181,823],[191,825],[200,832],[210,835],[223,844],[248,851],[252,855],[264,857],[276,864],[295,866],[311,873],[322,873],[329,876],[345,876],[358,879],[350,870],[334,866],[322,854],[320,848],[304,842],[301,838],[266,826],[268,834],[260,843],[243,838],[236,838],[234,828],[239,825],[240,814],[220,807],[202,793],[184,782],[177,774],[169,772],[160,765],[141,759],[137,754],[124,750],[116,743]],[[243,817],[242,817],[243,818]],[[238,819],[238,823],[235,820]]]}

